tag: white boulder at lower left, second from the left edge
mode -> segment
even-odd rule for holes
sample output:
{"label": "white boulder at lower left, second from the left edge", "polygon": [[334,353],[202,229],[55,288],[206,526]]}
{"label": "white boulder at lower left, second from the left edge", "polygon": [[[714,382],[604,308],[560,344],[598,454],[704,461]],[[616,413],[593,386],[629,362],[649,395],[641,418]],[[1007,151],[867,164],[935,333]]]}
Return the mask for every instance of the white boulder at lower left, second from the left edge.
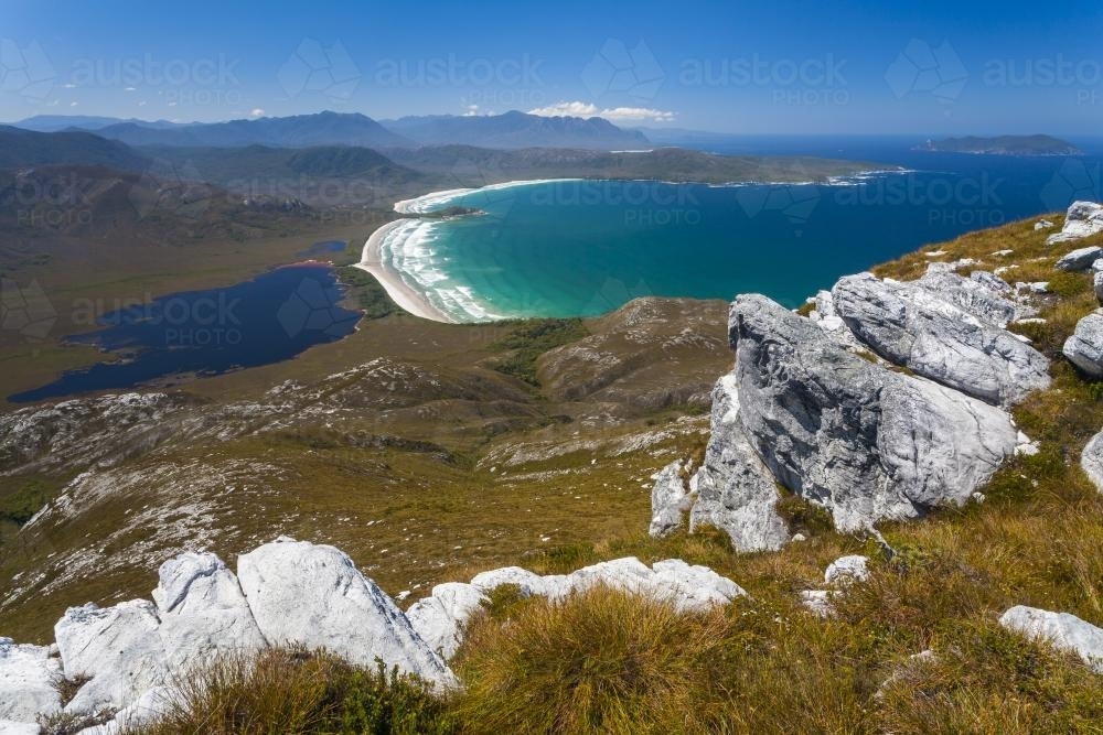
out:
{"label": "white boulder at lower left, second from the left edge", "polygon": [[146,599],[71,607],[54,626],[67,679],[88,678],[66,712],[121,710],[168,681],[160,620]]}

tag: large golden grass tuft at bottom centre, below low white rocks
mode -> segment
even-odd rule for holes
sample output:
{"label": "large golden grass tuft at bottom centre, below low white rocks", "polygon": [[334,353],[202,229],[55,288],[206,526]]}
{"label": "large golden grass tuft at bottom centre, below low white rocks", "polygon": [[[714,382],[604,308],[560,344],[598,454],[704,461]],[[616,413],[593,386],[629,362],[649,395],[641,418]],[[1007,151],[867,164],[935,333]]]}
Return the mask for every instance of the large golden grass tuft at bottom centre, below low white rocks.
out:
{"label": "large golden grass tuft at bottom centre, below low white rocks", "polygon": [[534,601],[472,626],[458,712],[472,732],[702,731],[728,631],[722,612],[679,615],[602,587]]}

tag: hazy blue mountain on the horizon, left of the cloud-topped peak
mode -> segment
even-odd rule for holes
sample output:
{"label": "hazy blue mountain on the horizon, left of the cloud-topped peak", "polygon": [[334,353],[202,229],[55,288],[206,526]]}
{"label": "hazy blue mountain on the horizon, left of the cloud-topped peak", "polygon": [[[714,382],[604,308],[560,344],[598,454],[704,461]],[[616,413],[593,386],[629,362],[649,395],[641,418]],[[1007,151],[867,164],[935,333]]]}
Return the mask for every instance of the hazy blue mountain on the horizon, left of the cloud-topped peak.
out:
{"label": "hazy blue mountain on the horizon, left of the cloud-topped peak", "polygon": [[97,134],[128,145],[186,148],[309,148],[356,145],[401,148],[415,143],[358,112],[318,112],[287,118],[231,120],[185,126],[150,127],[147,122],[119,122],[97,130]]}

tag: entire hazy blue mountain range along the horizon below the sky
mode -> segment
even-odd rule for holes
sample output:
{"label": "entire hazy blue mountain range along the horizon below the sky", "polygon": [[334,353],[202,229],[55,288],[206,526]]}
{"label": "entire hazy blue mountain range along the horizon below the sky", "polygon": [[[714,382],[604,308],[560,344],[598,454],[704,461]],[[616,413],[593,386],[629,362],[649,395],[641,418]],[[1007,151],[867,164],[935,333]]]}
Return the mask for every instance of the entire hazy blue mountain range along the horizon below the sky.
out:
{"label": "entire hazy blue mountain range along the horizon below the sky", "polygon": [[323,111],[286,118],[175,123],[103,117],[36,116],[17,127],[40,132],[85,130],[128,145],[173,148],[309,148],[356,145],[374,149],[465,144],[481,148],[639,149],[650,144],[638,130],[602,118],[539,117],[511,111],[459,117],[435,115],[376,121],[358,112]]}

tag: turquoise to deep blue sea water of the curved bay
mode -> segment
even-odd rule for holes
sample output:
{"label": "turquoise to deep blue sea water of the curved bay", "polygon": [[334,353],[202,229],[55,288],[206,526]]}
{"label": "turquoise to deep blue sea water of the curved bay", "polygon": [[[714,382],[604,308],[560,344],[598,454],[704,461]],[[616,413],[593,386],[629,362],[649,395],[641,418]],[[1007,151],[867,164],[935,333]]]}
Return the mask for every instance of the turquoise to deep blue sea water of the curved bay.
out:
{"label": "turquoise to deep blue sea water of the curved bay", "polygon": [[1099,165],[1097,156],[946,155],[898,143],[846,153],[908,170],[782,186],[491,187],[425,199],[421,210],[483,214],[410,220],[383,255],[458,321],[590,316],[641,295],[728,300],[753,291],[796,306],[839,275],[921,245],[1092,198],[1090,185],[1075,191],[1077,166]]}

